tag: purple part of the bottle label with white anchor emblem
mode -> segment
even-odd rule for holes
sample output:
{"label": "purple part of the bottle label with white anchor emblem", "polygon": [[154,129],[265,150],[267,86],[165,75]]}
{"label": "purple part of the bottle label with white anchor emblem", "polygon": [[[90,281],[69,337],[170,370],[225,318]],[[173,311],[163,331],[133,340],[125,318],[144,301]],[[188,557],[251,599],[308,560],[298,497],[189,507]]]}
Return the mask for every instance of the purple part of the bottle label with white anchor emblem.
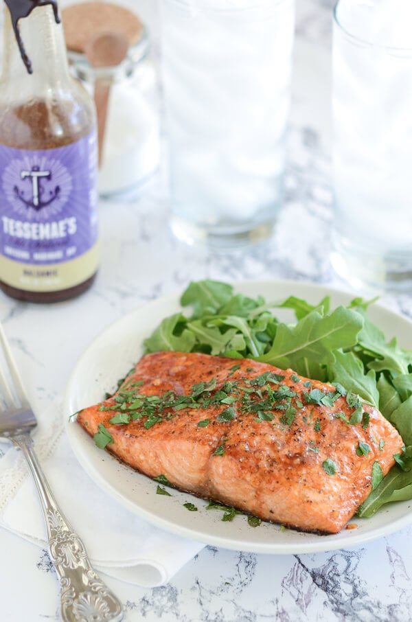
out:
{"label": "purple part of the bottle label with white anchor emblem", "polygon": [[0,254],[15,262],[60,264],[98,238],[95,133],[44,150],[0,145]]}

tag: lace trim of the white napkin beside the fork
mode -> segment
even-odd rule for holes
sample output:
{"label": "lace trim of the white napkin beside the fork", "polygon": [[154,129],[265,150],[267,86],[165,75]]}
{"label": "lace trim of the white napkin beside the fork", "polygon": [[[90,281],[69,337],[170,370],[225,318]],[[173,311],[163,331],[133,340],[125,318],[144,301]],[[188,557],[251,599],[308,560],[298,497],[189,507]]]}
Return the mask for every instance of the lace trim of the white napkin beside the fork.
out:
{"label": "lace trim of the white napkin beside the fork", "polygon": [[[43,418],[45,423],[39,424],[33,433],[36,456],[41,463],[52,456],[63,432],[60,408],[53,407],[49,417]],[[0,516],[28,474],[27,462],[19,450],[10,447],[2,457],[0,453]]]}

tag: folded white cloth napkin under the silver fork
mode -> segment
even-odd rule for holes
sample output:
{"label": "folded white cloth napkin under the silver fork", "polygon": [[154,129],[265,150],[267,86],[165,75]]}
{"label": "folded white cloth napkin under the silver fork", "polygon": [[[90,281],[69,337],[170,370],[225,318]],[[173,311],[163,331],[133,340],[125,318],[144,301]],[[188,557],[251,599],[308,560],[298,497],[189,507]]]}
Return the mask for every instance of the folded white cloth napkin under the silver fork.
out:
{"label": "folded white cloth napkin under the silver fork", "polygon": [[[170,581],[203,548],[200,542],[153,527],[93,483],[71,451],[59,406],[38,413],[38,422],[36,454],[60,509],[82,539],[96,570],[155,587]],[[4,451],[6,446],[0,448]],[[0,527],[47,548],[36,487],[24,457],[14,448],[0,459]]]}

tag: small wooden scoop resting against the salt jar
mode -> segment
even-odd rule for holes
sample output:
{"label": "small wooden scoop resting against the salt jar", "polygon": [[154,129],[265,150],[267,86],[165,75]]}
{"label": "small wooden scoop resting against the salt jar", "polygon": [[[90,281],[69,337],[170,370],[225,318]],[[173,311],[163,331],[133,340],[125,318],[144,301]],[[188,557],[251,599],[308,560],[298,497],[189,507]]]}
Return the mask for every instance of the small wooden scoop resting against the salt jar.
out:
{"label": "small wooden scoop resting against the salt jar", "polygon": [[[126,37],[117,32],[98,34],[91,38],[84,46],[87,60],[96,69],[101,67],[115,67],[124,60],[128,51]],[[104,128],[106,127],[108,98],[111,83],[105,78],[96,76],[94,84],[94,100],[98,115],[98,146],[99,165],[102,163]]]}

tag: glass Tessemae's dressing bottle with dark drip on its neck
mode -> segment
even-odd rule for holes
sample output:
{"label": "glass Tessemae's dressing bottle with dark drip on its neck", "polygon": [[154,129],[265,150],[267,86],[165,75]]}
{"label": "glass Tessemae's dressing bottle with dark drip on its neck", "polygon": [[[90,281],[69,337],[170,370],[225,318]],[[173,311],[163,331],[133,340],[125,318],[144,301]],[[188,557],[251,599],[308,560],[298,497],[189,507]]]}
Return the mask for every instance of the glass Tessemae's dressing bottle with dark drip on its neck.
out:
{"label": "glass Tessemae's dressing bottle with dark drip on its neck", "polygon": [[0,288],[60,301],[89,288],[98,269],[95,108],[69,72],[56,1],[5,3]]}

